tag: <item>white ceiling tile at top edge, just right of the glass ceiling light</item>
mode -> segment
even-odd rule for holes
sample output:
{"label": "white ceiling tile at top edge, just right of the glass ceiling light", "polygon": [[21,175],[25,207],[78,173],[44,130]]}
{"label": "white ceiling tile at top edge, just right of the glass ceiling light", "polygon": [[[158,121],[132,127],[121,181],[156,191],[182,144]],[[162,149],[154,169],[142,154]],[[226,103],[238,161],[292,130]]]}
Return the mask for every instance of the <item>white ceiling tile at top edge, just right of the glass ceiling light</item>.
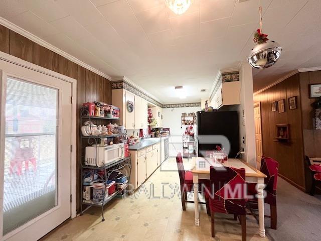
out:
{"label": "white ceiling tile at top edge, just right of the glass ceiling light", "polygon": [[236,0],[203,0],[201,2],[201,22],[231,17]]}

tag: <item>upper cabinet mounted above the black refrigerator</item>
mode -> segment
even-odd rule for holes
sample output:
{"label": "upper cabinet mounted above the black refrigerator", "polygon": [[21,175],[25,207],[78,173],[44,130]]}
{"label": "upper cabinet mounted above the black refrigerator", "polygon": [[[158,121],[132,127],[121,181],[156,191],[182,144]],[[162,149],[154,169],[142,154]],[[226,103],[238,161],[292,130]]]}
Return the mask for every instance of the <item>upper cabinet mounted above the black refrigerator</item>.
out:
{"label": "upper cabinet mounted above the black refrigerator", "polygon": [[220,79],[214,88],[210,105],[218,109],[223,105],[240,104],[240,91],[240,81],[222,82]]}

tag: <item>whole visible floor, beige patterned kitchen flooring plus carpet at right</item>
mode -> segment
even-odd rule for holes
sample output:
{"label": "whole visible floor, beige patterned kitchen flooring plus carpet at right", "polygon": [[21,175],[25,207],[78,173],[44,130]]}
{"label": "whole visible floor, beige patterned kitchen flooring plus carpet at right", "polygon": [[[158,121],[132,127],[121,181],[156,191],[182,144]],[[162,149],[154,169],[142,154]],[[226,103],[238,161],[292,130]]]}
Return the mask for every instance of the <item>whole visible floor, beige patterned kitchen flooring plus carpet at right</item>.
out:
{"label": "whole visible floor, beige patterned kitchen flooring plus carpet at right", "polygon": [[[185,161],[186,169],[189,161]],[[41,240],[241,240],[241,226],[232,215],[216,215],[216,237],[211,237],[210,217],[200,205],[200,226],[194,225],[194,204],[182,210],[176,160],[168,159],[135,195],[115,199],[100,209],[92,207],[47,234]],[[192,195],[190,196],[192,197]],[[268,208],[266,210],[268,212]],[[320,240],[321,201],[292,187],[284,180],[278,186],[278,229],[258,235],[258,223],[247,216],[247,240]]]}

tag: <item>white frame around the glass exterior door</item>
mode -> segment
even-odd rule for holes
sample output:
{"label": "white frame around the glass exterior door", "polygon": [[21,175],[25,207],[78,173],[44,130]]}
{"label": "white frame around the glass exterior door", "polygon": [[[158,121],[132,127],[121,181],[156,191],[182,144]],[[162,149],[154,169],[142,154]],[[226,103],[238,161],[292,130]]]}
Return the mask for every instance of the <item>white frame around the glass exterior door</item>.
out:
{"label": "white frame around the glass exterior door", "polygon": [[[76,99],[77,99],[77,80],[76,79],[73,79],[73,78],[70,78],[68,76],[65,76],[63,74],[60,74],[60,73],[57,73],[57,72],[54,72],[52,70],[49,70],[49,69],[46,69],[46,68],[43,68],[39,65],[36,65],[36,64],[33,64],[33,63],[30,63],[28,61],[25,61],[25,60],[22,60],[20,58],[17,58],[15,56],[12,56],[12,55],[9,55],[9,54],[6,54],[4,52],[1,52],[0,51],[0,60],[4,60],[4,61],[7,61],[7,62],[10,62],[10,63],[13,63],[13,64],[16,64],[16,65],[19,65],[19,66],[22,66],[22,67],[25,67],[25,68],[28,68],[28,69],[31,69],[31,70],[34,70],[34,71],[37,71],[37,72],[40,72],[40,73],[43,73],[43,74],[46,74],[46,75],[49,75],[49,76],[52,76],[52,77],[55,77],[55,78],[58,78],[58,79],[61,79],[61,80],[64,80],[66,82],[69,82],[71,83],[71,88],[72,88],[72,104],[71,104],[71,145],[73,146],[73,151],[71,153],[71,190],[70,190],[70,193],[72,195],[72,201],[70,203],[71,205],[71,213],[70,213],[70,217],[71,218],[74,218],[76,217],[77,213],[76,213],[76,147],[77,147],[77,137],[76,137],[76,130],[77,130],[77,125],[75,125],[75,123],[77,123],[77,114],[76,114]],[[1,80],[0,80],[1,82]],[[0,96],[2,94],[4,94],[3,92],[4,90],[1,91],[0,93]],[[4,104],[4,103],[2,103]],[[4,123],[1,123],[1,124],[4,124]],[[1,125],[2,126],[2,125]],[[3,176],[1,174],[0,176],[0,181],[3,181]],[[0,190],[1,191],[1,190]],[[3,208],[3,207],[1,207]],[[2,220],[2,218],[1,218]],[[1,237],[2,237],[2,224],[0,225],[0,240],[1,240]]]}

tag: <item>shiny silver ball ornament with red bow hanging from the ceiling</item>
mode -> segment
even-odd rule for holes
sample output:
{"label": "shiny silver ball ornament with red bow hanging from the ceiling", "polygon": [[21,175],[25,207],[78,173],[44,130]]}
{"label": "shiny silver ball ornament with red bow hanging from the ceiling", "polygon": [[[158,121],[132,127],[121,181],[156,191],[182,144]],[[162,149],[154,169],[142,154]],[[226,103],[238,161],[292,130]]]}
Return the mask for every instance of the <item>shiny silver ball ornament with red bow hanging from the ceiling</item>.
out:
{"label": "shiny silver ball ornament with red bow hanging from the ceiling", "polygon": [[280,58],[282,48],[277,42],[269,40],[267,34],[263,34],[261,1],[259,13],[260,29],[255,32],[253,39],[253,42],[256,43],[256,45],[251,50],[247,60],[253,68],[266,69],[275,64]]}

